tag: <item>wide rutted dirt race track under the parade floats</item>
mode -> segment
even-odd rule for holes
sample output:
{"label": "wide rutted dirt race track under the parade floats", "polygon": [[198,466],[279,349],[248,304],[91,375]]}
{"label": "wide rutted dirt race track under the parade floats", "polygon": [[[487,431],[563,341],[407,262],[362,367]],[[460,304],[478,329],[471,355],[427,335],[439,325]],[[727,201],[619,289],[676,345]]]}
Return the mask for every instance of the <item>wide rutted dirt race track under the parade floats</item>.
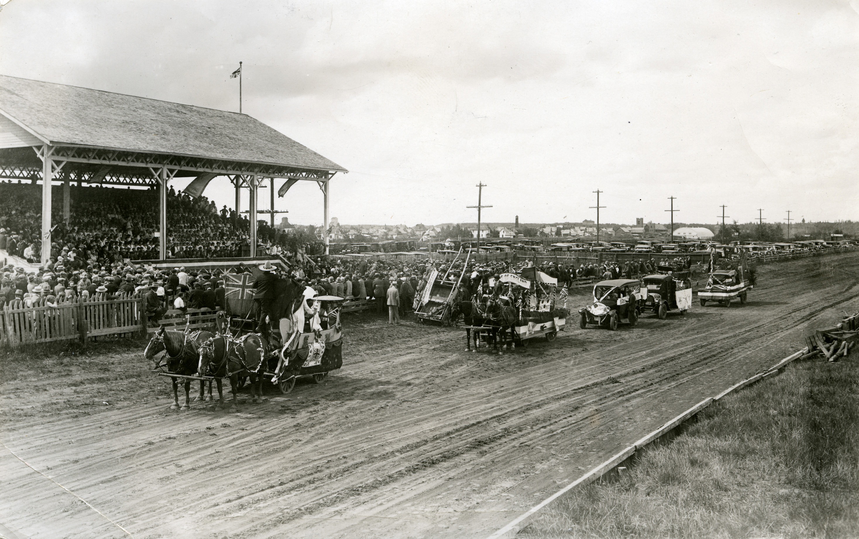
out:
{"label": "wide rutted dirt race track under the parade floats", "polygon": [[342,370],[258,405],[246,388],[238,413],[168,409],[142,350],[3,366],[0,536],[488,536],[856,312],[857,263],[764,266],[745,306],[615,332],[571,317],[503,355],[466,353],[461,330],[346,318]]}

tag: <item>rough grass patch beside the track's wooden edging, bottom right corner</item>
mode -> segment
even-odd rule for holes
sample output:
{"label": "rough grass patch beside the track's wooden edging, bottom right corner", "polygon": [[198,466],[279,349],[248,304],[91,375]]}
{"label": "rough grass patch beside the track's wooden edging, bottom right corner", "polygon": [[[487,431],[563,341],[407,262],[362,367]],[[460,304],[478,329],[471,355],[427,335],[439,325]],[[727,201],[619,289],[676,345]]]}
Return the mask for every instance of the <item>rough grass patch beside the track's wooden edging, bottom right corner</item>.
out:
{"label": "rough grass patch beside the track's wooden edging, bottom right corner", "polygon": [[518,536],[859,536],[855,354],[789,366],[698,417],[618,481],[572,491]]}

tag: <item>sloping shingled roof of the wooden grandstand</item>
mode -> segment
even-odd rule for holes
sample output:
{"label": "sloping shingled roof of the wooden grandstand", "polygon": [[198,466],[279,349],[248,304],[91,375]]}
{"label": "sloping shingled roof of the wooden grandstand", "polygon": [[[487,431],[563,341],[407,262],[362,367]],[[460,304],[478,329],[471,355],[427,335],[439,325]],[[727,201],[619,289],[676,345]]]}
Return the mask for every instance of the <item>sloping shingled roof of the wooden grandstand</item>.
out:
{"label": "sloping shingled roof of the wooden grandstand", "polygon": [[0,113],[42,142],[344,171],[247,114],[0,75]]}

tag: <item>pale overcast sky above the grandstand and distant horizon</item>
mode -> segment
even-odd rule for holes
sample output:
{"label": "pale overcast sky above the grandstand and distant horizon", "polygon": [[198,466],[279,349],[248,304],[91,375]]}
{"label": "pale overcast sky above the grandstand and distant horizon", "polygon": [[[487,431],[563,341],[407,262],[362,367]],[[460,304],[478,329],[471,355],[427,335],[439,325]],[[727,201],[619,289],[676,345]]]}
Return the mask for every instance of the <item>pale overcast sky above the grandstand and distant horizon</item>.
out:
{"label": "pale overcast sky above the grandstand and distant horizon", "polygon": [[[237,110],[243,61],[243,112],[350,170],[342,223],[475,221],[478,181],[484,221],[594,219],[597,189],[603,222],[667,222],[671,196],[676,221],[856,220],[857,45],[856,1],[0,11],[4,75]],[[206,195],[232,204],[225,179]],[[277,205],[322,221],[312,183]]]}

